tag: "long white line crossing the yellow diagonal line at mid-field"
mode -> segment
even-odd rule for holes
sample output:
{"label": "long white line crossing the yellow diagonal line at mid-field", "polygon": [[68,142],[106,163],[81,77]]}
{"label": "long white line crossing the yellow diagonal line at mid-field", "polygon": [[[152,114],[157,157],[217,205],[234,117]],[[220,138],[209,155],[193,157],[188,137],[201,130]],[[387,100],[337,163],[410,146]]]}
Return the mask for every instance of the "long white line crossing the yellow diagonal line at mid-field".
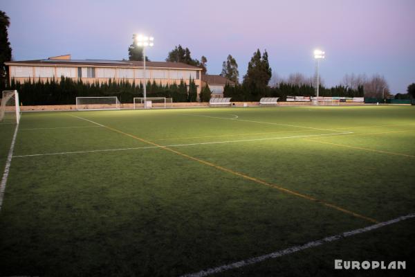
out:
{"label": "long white line crossing the yellow diagonal line at mid-field", "polygon": [[139,149],[151,149],[151,148],[170,148],[170,147],[183,147],[183,146],[192,146],[192,145],[209,145],[209,144],[220,144],[220,143],[242,143],[250,141],[272,141],[277,139],[301,139],[309,138],[313,136],[342,136],[345,134],[351,134],[353,132],[344,132],[344,133],[332,133],[332,134],[311,134],[304,136],[277,136],[274,138],[264,138],[264,139],[240,139],[237,141],[210,141],[205,143],[185,143],[185,144],[171,144],[171,145],[160,145],[160,146],[142,146],[137,148],[115,148],[115,149],[103,149],[103,150],[85,150],[85,151],[73,151],[73,152],[55,152],[55,153],[43,153],[43,154],[28,154],[28,155],[16,155],[13,158],[22,158],[22,157],[39,157],[39,156],[50,156],[50,155],[63,155],[63,154],[82,154],[82,153],[93,153],[93,152],[110,152],[110,151],[122,151],[122,150],[139,150]]}

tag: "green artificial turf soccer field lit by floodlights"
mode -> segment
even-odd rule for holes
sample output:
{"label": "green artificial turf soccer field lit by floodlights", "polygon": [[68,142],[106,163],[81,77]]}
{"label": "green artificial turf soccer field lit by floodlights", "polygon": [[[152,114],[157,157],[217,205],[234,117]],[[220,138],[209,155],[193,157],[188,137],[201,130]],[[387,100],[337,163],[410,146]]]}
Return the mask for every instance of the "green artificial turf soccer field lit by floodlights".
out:
{"label": "green artificial turf soccer field lit by floodlights", "polygon": [[[15,125],[0,131],[3,174]],[[0,276],[350,276],[335,259],[406,260],[361,272],[403,276],[414,142],[414,107],[25,113]]]}

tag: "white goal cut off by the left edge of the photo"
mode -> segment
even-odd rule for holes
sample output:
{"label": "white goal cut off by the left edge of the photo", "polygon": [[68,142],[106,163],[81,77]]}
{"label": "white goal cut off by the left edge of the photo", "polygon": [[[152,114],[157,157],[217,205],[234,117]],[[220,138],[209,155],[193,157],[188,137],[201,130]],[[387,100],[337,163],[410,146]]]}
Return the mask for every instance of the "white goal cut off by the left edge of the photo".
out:
{"label": "white goal cut off by the left edge of the photo", "polygon": [[20,121],[19,93],[3,91],[0,104],[1,123],[17,123]]}

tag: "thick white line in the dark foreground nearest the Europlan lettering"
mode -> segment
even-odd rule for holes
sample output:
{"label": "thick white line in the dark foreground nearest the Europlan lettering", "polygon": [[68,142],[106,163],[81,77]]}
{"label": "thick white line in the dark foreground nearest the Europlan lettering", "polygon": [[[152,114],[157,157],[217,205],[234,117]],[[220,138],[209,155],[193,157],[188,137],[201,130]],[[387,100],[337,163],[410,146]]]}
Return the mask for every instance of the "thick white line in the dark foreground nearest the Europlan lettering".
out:
{"label": "thick white line in the dark foreground nearest the Europlan lettering", "polygon": [[196,273],[185,274],[185,275],[182,275],[181,277],[209,276],[209,275],[218,274],[218,273],[221,273],[223,271],[230,270],[230,269],[237,269],[237,268],[240,268],[240,267],[246,267],[248,265],[253,265],[253,264],[256,264],[258,262],[262,262],[264,260],[279,258],[279,257],[282,257],[282,256],[286,256],[288,254],[291,254],[291,253],[302,251],[304,249],[318,247],[318,246],[320,246],[322,244],[326,244],[328,242],[333,242],[335,240],[341,240],[342,238],[347,238],[347,237],[350,237],[352,235],[358,235],[360,233],[369,232],[369,231],[372,231],[372,230],[375,230],[375,229],[379,229],[380,227],[383,227],[383,226],[395,224],[395,223],[403,221],[403,220],[409,220],[413,217],[415,217],[415,213],[410,213],[409,215],[403,215],[403,216],[400,216],[400,217],[396,217],[393,220],[380,222],[378,224],[367,226],[365,228],[356,229],[356,230],[352,230],[352,231],[347,231],[347,232],[344,232],[344,233],[340,233],[338,235],[332,235],[330,237],[322,238],[320,240],[314,240],[312,242],[307,242],[306,244],[297,245],[295,247],[290,247],[290,248],[280,250],[280,251],[276,251],[276,252],[273,252],[273,253],[269,253],[269,254],[266,254],[266,255],[263,255],[263,256],[257,256],[257,257],[249,258],[249,259],[246,259],[246,260],[239,260],[238,262],[232,262],[228,265],[221,265],[219,267],[212,267],[210,269],[201,270],[201,271],[196,272]]}

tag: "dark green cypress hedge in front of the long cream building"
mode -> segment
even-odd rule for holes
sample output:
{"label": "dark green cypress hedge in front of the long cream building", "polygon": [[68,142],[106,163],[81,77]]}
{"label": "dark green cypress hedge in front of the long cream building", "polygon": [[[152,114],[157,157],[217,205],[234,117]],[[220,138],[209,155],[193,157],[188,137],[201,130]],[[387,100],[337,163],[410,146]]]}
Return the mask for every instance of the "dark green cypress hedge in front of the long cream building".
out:
{"label": "dark green cypress hedge in front of the long cream building", "polygon": [[[82,82],[81,79],[62,77],[46,82],[27,80],[20,83],[12,80],[6,89],[17,89],[22,105],[73,105],[75,99],[83,97],[117,96],[122,103],[132,103],[133,98],[143,97],[144,84],[135,84],[127,80],[108,82]],[[179,84],[161,84],[147,82],[147,97],[172,98],[173,102],[196,102],[197,87],[194,80],[187,85],[183,80]],[[206,91],[205,91],[206,93]],[[206,96],[210,99],[210,94]]]}

